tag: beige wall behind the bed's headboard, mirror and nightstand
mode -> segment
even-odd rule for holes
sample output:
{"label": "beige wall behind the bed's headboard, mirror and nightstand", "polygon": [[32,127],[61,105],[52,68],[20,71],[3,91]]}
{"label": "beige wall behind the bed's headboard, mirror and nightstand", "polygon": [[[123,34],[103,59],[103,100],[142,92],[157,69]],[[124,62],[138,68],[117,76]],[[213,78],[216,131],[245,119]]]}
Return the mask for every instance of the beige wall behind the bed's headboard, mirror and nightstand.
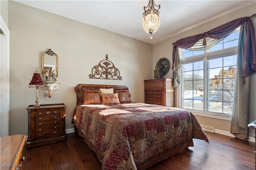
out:
{"label": "beige wall behind the bed's headboard, mirror and nightstand", "polygon": [[[93,27],[18,2],[9,1],[10,135],[28,133],[26,107],[34,105],[36,89],[28,88],[41,70],[41,55],[49,48],[58,55],[59,90],[39,89],[39,104],[64,103],[66,129],[73,128],[74,87],[86,84],[126,85],[134,102],[144,102],[144,80],[152,75],[152,45]],[[105,59],[120,70],[122,80],[90,79],[92,67]]]}

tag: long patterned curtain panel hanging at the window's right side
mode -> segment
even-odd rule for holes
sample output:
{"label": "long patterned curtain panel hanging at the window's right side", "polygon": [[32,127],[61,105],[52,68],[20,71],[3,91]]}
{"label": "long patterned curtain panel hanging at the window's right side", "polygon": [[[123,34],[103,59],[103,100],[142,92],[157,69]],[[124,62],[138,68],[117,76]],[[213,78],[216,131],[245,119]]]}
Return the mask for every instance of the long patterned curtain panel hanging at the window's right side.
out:
{"label": "long patterned curtain panel hanging at the window's right side", "polygon": [[234,107],[230,133],[236,138],[248,141],[250,113],[250,75],[256,73],[256,43],[251,20],[240,29],[238,41]]}

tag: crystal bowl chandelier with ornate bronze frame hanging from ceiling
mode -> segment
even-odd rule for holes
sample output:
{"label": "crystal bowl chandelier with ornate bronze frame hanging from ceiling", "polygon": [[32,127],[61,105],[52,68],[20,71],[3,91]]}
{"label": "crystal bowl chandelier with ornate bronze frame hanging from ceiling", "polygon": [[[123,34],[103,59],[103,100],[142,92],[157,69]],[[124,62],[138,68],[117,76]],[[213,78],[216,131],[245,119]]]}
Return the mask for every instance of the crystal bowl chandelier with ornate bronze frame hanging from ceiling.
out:
{"label": "crystal bowl chandelier with ornate bronze frame hanging from ceiling", "polygon": [[[155,7],[158,7],[156,10]],[[142,26],[146,33],[155,33],[160,25],[159,9],[160,4],[156,6],[154,0],[149,0],[148,6],[142,8],[145,10],[142,14]]]}

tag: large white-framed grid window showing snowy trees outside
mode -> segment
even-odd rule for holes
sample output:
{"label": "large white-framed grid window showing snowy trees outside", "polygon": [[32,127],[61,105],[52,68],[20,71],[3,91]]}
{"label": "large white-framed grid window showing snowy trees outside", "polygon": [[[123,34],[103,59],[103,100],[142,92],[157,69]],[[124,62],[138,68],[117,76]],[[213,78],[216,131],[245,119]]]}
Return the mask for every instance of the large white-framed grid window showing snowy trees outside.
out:
{"label": "large white-framed grid window showing snowy trees outside", "polygon": [[182,51],[182,108],[232,115],[239,29],[205,51]]}

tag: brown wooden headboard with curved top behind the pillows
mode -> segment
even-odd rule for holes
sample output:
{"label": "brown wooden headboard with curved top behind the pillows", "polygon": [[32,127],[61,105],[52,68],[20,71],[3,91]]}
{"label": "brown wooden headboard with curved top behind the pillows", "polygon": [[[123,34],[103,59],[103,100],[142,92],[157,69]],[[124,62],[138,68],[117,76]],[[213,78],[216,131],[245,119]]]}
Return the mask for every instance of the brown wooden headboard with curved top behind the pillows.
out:
{"label": "brown wooden headboard with curved top behind the pillows", "polygon": [[[123,85],[106,85],[106,84],[78,84],[76,88],[85,88],[85,89],[99,89],[99,88],[114,88],[116,90],[127,88]],[[127,88],[128,89],[128,88]],[[130,94],[131,96],[131,94]],[[78,96],[76,96],[76,104],[78,104]]]}

